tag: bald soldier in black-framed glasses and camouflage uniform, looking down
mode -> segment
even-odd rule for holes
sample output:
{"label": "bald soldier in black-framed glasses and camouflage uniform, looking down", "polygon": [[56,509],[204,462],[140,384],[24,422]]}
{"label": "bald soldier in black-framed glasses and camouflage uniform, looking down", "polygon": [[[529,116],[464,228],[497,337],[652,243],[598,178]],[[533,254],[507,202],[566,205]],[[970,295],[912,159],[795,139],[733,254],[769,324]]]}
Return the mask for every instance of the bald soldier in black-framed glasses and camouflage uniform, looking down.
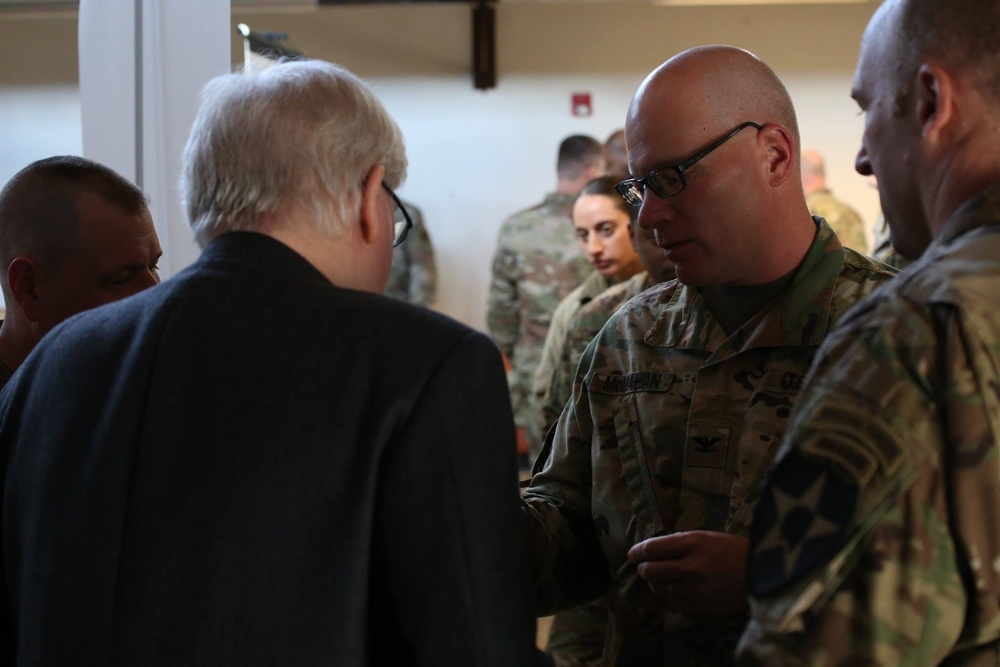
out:
{"label": "bald soldier in black-framed glasses and camouflage uniform, looking down", "polygon": [[620,191],[677,281],[580,362],[522,504],[538,612],[609,596],[603,665],[729,665],[757,498],[827,330],[892,270],[809,215],[791,99],[732,47],[686,51],[629,108]]}

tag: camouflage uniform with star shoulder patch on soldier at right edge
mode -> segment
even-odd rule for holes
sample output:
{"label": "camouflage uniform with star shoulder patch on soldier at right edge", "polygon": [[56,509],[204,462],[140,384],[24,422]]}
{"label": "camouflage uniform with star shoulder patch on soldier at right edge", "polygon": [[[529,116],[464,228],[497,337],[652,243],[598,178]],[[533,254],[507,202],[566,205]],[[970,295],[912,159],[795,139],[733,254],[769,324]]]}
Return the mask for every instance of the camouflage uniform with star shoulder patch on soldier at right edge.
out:
{"label": "camouflage uniform with star shoulder patch on soldier at right edge", "polygon": [[761,500],[745,664],[1000,664],[1000,185],[824,343]]}

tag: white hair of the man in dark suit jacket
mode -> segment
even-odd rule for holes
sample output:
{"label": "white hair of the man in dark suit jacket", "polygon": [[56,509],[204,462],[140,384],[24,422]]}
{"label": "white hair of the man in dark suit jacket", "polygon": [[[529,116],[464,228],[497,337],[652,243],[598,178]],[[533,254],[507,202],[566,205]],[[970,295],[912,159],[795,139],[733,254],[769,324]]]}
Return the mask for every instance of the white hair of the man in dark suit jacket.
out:
{"label": "white hair of the man in dark suit jacket", "polygon": [[205,245],[231,231],[264,231],[261,216],[298,206],[337,236],[355,220],[375,165],[406,177],[399,127],[354,74],[318,60],[278,62],[216,77],[184,148],[181,197]]}

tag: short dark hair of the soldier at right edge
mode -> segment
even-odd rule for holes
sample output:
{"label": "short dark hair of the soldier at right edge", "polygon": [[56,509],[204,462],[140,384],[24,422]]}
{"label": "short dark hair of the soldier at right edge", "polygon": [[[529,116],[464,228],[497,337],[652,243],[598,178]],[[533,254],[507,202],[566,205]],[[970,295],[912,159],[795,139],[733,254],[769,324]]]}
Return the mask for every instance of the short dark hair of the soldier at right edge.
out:
{"label": "short dark hair of the soldier at right edge", "polygon": [[980,93],[1000,103],[1000,2],[903,0],[896,9],[901,83],[930,59],[967,72]]}

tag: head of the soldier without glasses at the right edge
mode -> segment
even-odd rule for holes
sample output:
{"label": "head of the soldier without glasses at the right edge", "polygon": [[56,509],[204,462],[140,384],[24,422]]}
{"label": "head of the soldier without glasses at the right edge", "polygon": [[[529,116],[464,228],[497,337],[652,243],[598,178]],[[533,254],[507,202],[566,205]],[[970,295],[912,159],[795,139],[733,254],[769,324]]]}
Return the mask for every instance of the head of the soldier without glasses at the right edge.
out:
{"label": "head of the soldier without glasses at the right edge", "polygon": [[855,167],[878,176],[893,246],[923,253],[948,217],[1000,180],[1000,3],[888,0],[861,43]]}

